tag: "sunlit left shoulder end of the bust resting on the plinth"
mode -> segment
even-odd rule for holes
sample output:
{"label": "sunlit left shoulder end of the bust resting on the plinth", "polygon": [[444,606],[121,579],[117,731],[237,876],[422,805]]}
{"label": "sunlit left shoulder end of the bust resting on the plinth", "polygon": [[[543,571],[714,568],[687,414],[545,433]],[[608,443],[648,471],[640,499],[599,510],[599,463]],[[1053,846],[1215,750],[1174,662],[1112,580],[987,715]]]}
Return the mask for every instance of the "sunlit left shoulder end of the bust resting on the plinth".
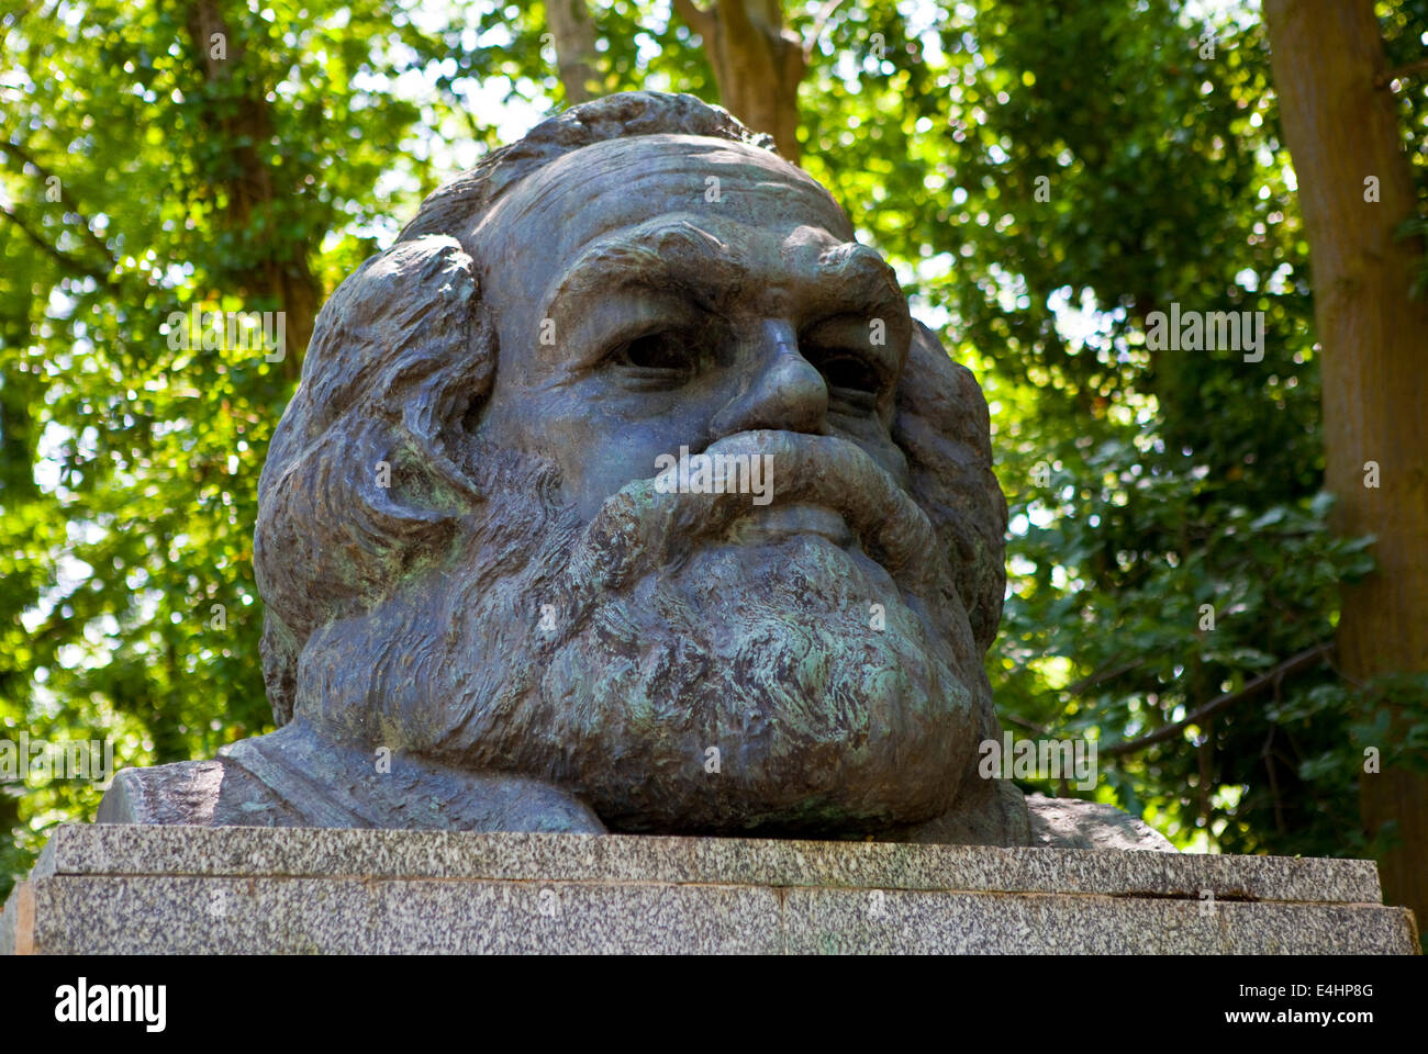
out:
{"label": "sunlit left shoulder end of the bust resting on the plinth", "polygon": [[94,821],[287,827],[298,818],[271,788],[220,756],[116,773]]}

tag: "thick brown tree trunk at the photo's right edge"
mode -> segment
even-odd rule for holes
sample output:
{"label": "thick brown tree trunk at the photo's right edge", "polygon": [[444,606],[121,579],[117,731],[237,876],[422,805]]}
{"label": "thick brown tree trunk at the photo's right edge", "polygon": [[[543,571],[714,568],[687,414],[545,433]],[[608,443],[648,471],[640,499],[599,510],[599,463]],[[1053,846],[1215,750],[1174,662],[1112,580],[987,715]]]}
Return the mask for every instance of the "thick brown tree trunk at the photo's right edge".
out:
{"label": "thick brown tree trunk at the photo's right edge", "polygon": [[[1375,79],[1372,0],[1265,0],[1279,120],[1294,154],[1322,344],[1327,486],[1337,530],[1375,534],[1379,571],[1344,590],[1339,667],[1352,681],[1428,671],[1428,303],[1409,300],[1422,254],[1394,240],[1415,196],[1395,106]],[[1378,201],[1365,180],[1377,177]],[[1379,486],[1365,486],[1365,463]],[[1399,724],[1397,716],[1395,724]],[[1387,756],[1391,744],[1379,744]],[[1428,920],[1428,780],[1385,766],[1359,777],[1368,833],[1397,820],[1384,894]]]}

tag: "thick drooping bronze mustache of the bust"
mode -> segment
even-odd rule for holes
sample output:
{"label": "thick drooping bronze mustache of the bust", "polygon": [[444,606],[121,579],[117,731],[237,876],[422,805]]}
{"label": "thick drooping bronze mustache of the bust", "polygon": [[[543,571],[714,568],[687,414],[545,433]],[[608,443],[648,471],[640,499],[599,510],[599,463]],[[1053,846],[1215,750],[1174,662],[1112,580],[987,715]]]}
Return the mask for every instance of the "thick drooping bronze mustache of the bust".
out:
{"label": "thick drooping bronze mustache of the bust", "polygon": [[[724,536],[741,517],[768,507],[823,506],[840,513],[864,553],[894,580],[922,594],[935,580],[937,534],[927,514],[897,480],[857,444],[794,431],[741,431],[708,446],[708,457],[771,458],[773,496],[755,504],[748,493],[680,493],[657,477],[625,484],[584,526],[567,574],[587,588],[620,588],[640,568],[671,567],[700,543]],[[767,500],[767,498],[765,498]]]}

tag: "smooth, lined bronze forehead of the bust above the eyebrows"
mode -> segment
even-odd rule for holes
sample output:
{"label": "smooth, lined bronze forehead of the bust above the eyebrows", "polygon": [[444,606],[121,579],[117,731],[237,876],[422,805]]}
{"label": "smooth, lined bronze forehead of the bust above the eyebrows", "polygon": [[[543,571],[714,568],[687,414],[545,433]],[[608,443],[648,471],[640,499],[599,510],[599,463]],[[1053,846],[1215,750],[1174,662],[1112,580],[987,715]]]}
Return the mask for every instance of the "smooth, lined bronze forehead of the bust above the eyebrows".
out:
{"label": "smooth, lined bronze forehead of the bust above the eyebrows", "polygon": [[478,231],[538,239],[554,257],[668,213],[748,227],[815,226],[853,240],[814,179],[767,150],[703,136],[634,136],[574,150],[516,183]]}

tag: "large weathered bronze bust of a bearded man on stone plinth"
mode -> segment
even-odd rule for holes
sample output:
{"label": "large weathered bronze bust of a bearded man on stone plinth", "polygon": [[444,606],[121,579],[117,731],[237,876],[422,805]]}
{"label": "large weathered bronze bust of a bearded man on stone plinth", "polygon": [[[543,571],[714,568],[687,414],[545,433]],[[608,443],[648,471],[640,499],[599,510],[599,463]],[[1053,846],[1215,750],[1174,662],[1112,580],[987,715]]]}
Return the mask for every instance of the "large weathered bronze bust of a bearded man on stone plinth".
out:
{"label": "large weathered bronze bust of a bearded man on stone plinth", "polygon": [[431,194],[318,316],[258,503],[280,727],[120,773],[100,821],[1168,847],[978,771],[985,401],[694,97]]}

